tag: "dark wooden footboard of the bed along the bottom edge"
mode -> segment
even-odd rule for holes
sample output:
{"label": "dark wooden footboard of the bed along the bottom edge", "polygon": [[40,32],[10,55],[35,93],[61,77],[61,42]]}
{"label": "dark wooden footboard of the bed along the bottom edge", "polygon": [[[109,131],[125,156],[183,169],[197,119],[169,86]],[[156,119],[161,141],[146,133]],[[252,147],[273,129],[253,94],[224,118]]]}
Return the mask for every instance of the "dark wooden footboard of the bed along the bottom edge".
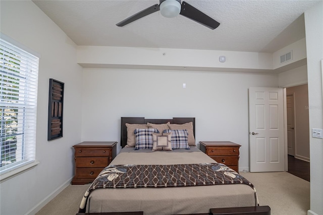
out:
{"label": "dark wooden footboard of the bed along the bottom edge", "polygon": [[[77,213],[76,215],[143,215],[143,212]],[[209,213],[195,213],[195,215],[271,215],[271,208],[270,206],[211,208]]]}

